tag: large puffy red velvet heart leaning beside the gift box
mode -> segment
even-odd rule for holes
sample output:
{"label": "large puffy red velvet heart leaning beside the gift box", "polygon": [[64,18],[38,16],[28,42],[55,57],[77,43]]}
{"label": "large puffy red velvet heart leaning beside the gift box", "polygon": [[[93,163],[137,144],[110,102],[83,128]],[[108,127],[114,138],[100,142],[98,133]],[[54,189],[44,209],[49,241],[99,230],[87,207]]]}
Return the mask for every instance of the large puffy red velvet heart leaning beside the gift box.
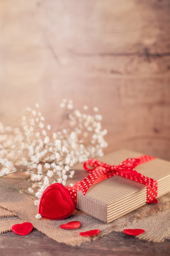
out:
{"label": "large puffy red velvet heart leaning beside the gift box", "polygon": [[44,190],[39,206],[39,213],[43,218],[63,220],[74,210],[75,202],[62,184],[54,183]]}

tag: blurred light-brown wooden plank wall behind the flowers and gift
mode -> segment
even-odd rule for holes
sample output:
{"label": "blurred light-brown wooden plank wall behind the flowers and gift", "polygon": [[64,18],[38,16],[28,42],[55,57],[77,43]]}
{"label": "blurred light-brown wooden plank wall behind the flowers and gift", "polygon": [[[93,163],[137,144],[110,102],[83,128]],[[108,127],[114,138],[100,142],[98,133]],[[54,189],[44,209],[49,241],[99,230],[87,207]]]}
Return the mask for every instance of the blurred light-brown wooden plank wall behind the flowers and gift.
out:
{"label": "blurred light-brown wooden plank wall behind the flowers and gift", "polygon": [[97,106],[105,153],[170,160],[170,0],[0,0],[0,121]]}

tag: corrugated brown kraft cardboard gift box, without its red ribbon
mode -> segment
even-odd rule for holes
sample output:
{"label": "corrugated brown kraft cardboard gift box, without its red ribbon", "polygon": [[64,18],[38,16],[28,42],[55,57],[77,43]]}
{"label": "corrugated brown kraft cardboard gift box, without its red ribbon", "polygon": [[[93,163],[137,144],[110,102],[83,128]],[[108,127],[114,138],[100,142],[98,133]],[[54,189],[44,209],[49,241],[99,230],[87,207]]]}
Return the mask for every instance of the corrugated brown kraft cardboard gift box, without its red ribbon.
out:
{"label": "corrugated brown kraft cardboard gift box, without its red ribbon", "polygon": [[[142,153],[130,150],[118,150],[100,161],[118,165],[127,158],[137,158]],[[170,191],[170,162],[155,158],[135,167],[135,171],[157,180],[157,198]],[[77,191],[77,209],[88,215],[109,223],[126,213],[133,211],[147,202],[147,187],[144,184],[115,175],[92,185],[86,195]]]}

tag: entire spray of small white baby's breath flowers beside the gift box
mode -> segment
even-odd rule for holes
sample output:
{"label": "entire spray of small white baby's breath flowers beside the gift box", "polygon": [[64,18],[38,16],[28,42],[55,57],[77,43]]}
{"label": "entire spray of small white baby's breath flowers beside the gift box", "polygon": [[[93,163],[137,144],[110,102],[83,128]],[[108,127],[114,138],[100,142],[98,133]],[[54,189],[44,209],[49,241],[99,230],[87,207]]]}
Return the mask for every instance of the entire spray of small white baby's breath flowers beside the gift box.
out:
{"label": "entire spray of small white baby's breath flowers beside the gift box", "polygon": [[107,130],[102,130],[98,108],[90,115],[84,106],[82,113],[66,99],[60,107],[66,111],[67,125],[53,133],[51,126],[45,125],[38,104],[33,110],[27,108],[21,127],[4,127],[0,123],[0,181],[11,173],[24,171],[30,184],[22,191],[35,193],[36,206],[50,184],[59,182],[65,186],[67,178],[74,175],[74,164],[102,156],[102,149],[107,146]]}

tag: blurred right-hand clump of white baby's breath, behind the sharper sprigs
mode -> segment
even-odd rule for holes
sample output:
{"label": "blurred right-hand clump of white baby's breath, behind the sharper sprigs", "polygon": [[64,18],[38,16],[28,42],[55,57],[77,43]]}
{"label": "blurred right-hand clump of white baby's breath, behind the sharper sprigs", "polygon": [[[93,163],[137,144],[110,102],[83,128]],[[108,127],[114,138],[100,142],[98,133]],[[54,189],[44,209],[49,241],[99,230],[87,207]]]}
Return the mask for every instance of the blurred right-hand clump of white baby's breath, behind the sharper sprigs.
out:
{"label": "blurred right-hand clump of white baby's breath, behind the sharper sprigs", "polygon": [[91,115],[88,106],[84,106],[82,113],[74,108],[73,101],[66,99],[63,99],[60,107],[66,110],[68,126],[53,132],[53,138],[62,140],[69,150],[69,157],[73,157],[76,163],[82,163],[89,158],[103,156],[103,148],[108,146],[104,139],[107,130],[102,130],[102,115],[97,113],[99,109],[95,107],[94,115]]}

